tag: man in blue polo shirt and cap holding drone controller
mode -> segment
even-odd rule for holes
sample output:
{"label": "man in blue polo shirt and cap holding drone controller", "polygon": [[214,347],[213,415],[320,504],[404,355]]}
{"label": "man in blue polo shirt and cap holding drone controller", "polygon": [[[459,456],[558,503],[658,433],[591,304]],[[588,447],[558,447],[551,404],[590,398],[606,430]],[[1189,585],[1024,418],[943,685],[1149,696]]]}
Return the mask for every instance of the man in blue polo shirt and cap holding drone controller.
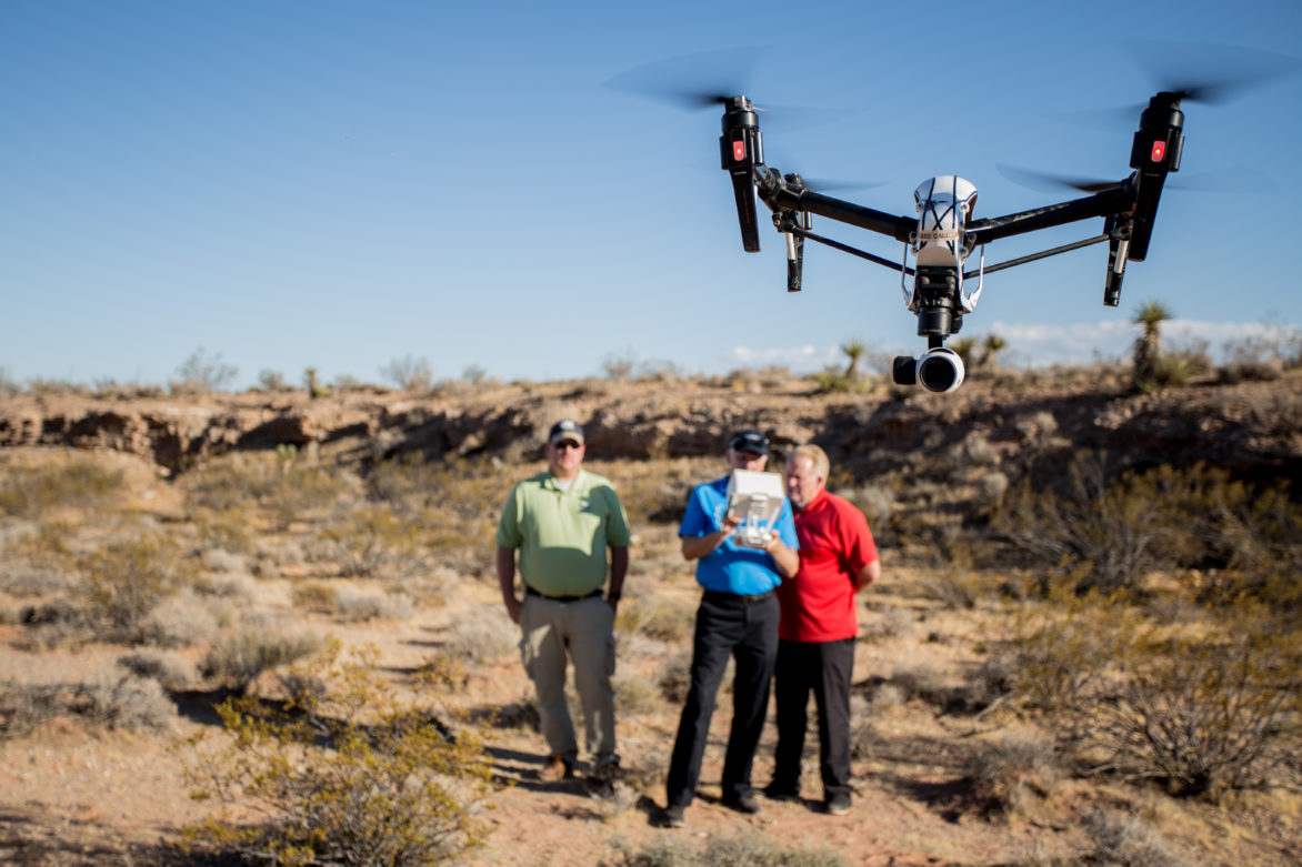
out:
{"label": "man in blue polo shirt and cap holding drone controller", "polygon": [[[767,463],[768,440],[759,431],[738,431],[728,441],[729,470],[762,473]],[[695,797],[715,696],[729,656],[736,659],[737,670],[723,802],[745,814],[760,811],[751,791],[750,771],[777,659],[779,605],[773,591],[783,578],[799,569],[790,502],[783,500],[777,522],[762,548],[742,547],[733,538],[741,522],[728,514],[728,478],[694,488],[678,527],[682,556],[697,561],[697,583],[704,592],[697,609],[691,686],[665,782],[665,824],[672,828],[684,825],[684,812]]]}

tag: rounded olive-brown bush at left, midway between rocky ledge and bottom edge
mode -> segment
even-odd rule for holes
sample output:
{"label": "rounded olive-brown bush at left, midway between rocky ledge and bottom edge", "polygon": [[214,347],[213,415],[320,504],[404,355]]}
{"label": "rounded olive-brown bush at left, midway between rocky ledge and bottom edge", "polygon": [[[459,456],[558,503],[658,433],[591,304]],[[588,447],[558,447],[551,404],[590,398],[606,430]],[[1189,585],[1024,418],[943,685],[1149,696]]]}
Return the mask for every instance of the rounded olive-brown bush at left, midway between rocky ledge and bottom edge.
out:
{"label": "rounded olive-brown bush at left, midway between rocky ledge and bottom edge", "polygon": [[187,577],[181,552],[168,538],[141,532],[107,542],[79,560],[86,612],[112,640],[142,643],[147,620]]}

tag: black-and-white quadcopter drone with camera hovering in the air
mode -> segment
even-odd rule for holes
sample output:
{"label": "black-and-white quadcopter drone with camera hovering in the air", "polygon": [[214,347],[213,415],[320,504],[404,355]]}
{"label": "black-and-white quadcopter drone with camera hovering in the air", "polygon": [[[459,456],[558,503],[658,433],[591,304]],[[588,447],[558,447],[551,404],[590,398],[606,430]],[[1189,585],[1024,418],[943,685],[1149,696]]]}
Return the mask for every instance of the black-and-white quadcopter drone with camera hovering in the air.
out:
{"label": "black-and-white quadcopter drone with camera hovering in the air", "polygon": [[[749,98],[734,95],[712,100],[724,105],[720,161],[732,178],[742,247],[747,253],[759,251],[758,198],[772,211],[773,227],[785,236],[788,292],[801,290],[805,241],[898,271],[905,306],[917,315],[918,336],[927,338],[927,350],[918,358],[897,357],[892,379],[897,385],[921,385],[930,392],[948,393],[962,384],[965,368],[962,358],[945,346],[945,340],[957,333],[963,316],[975,310],[987,273],[1107,242],[1103,303],[1116,307],[1121,302],[1126,263],[1143,262],[1148,255],[1163,186],[1168,174],[1180,171],[1185,141],[1181,102],[1191,95],[1195,94],[1190,90],[1159,91],[1148,100],[1139,115],[1139,129],[1130,147],[1131,172],[1126,178],[1073,184],[1090,195],[982,220],[974,216],[976,186],[956,174],[919,184],[913,193],[913,216],[894,216],[818,193],[799,174],[784,174],[764,164],[759,109]],[[814,215],[894,238],[904,243],[902,259],[892,262],[816,234],[811,230]],[[1092,217],[1103,217],[1101,234],[986,264],[986,245],[992,241]],[[969,259],[978,251],[978,264],[971,268]]]}

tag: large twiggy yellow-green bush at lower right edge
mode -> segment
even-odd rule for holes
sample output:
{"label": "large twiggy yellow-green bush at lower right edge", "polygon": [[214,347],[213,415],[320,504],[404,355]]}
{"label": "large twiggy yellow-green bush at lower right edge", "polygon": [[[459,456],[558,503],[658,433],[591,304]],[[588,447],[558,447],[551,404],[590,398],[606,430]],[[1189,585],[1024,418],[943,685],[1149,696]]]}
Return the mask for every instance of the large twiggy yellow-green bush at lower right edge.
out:
{"label": "large twiggy yellow-green bush at lower right edge", "polygon": [[1013,676],[1081,768],[1216,798],[1268,782],[1302,743],[1302,648],[1272,618],[1168,634],[1116,601],[1090,607],[1023,634]]}

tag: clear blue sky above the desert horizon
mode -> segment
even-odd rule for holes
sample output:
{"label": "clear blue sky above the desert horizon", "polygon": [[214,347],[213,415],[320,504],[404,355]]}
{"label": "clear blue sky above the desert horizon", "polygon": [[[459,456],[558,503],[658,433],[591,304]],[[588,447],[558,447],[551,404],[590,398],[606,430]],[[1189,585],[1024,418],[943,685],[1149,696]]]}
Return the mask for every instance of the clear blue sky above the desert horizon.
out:
{"label": "clear blue sky above the desert horizon", "polygon": [[[788,296],[780,236],[742,253],[717,111],[603,82],[763,48],[747,95],[833,109],[766,117],[771,164],[881,182],[840,195],[896,213],[956,173],[986,217],[1070,198],[997,163],[1129,171],[1137,117],[1062,117],[1157,89],[1125,38],[1298,56],[1302,4],[0,0],[0,368],[165,383],[203,348],[247,385],[307,367],[380,381],[405,357],[436,378],[543,380],[612,355],[723,372],[818,370],[848,338],[911,353],[894,272],[807,245]],[[991,275],[962,336],[999,333],[1027,365],[1124,354],[1147,299],[1213,349],[1302,324],[1299,107],[1299,74],[1186,105],[1181,176],[1242,172],[1258,191],[1255,169],[1275,189],[1168,191],[1120,309],[1090,247]],[[1100,228],[999,242],[987,262]]]}

